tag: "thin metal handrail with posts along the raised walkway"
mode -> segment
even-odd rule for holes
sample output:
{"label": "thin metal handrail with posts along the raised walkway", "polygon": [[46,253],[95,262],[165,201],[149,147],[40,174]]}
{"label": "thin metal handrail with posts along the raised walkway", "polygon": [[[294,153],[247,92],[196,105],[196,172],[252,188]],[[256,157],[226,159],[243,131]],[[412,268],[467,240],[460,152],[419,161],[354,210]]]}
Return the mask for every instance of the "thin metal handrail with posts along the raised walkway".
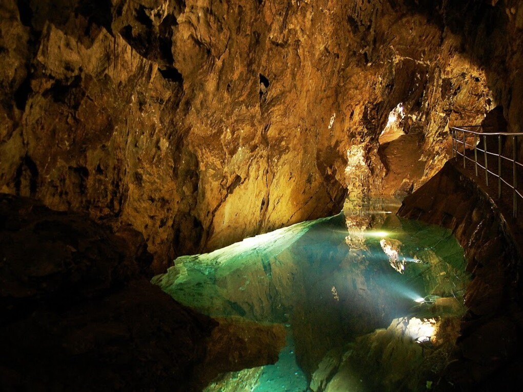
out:
{"label": "thin metal handrail with posts along the raised walkway", "polygon": [[[510,133],[510,132],[476,132],[468,128],[483,128],[482,125],[462,125],[462,126],[453,126],[450,131],[452,135],[452,158],[457,158],[458,155],[463,157],[463,167],[466,167],[467,160],[470,160],[474,163],[474,169],[476,177],[478,174],[478,167],[485,170],[485,183],[488,187],[488,175],[491,174],[498,179],[498,198],[501,199],[502,196],[502,185],[508,186],[513,190],[513,217],[517,218],[518,213],[518,198],[523,199],[523,194],[518,189],[518,167],[523,167],[523,163],[518,162],[518,137],[523,137],[523,132]],[[460,133],[458,135],[458,132]],[[496,139],[497,136],[497,153],[492,151],[487,151],[487,139]],[[501,140],[502,136],[511,136],[513,138],[512,143],[512,157],[506,157],[502,154],[503,143]],[[467,139],[473,137],[473,144],[467,143]],[[481,144],[481,139],[483,139],[483,149],[478,148],[477,145]],[[492,143],[492,142],[491,142]],[[458,149],[458,145],[462,145],[463,152],[461,153]],[[465,153],[465,149],[471,147],[474,150],[474,158],[470,158]],[[477,152],[483,153],[484,157],[484,166],[477,159]],[[497,156],[497,174],[488,168],[488,159],[487,156]],[[512,184],[510,184],[506,177],[503,178],[502,172],[502,159],[512,162]]]}

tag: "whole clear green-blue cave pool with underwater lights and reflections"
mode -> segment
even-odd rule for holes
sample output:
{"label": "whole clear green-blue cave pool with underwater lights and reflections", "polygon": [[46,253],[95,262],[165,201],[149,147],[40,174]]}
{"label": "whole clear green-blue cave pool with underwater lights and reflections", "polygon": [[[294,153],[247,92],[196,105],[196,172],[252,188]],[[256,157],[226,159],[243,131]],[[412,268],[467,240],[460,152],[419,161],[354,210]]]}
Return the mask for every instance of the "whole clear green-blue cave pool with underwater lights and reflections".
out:
{"label": "whole clear green-blue cave pool with underwater lights and reflections", "polygon": [[346,205],[180,257],[153,278],[212,317],[285,326],[276,364],[224,374],[206,392],[423,390],[437,382],[465,312],[463,249],[448,229],[397,217],[396,200]]}

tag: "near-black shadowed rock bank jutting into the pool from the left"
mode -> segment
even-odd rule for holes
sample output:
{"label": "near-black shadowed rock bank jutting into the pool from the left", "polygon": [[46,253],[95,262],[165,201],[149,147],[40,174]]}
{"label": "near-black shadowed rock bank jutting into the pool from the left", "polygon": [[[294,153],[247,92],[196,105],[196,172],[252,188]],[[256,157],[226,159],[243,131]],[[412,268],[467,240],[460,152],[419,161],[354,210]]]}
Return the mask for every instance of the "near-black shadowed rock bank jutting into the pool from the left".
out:
{"label": "near-black shadowed rock bank jutting into the pool from the left", "polygon": [[151,262],[131,228],[0,193],[0,390],[186,392],[277,360],[282,327],[198,314]]}

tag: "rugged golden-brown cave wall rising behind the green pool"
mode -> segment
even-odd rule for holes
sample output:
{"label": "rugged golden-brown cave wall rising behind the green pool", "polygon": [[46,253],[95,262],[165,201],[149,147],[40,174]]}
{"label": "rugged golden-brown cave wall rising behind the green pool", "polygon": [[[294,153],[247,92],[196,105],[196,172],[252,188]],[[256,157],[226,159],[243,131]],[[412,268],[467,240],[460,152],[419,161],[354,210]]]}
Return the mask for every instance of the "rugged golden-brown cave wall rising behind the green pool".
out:
{"label": "rugged golden-brown cave wall rising behind the green pool", "polygon": [[[0,6],[0,190],[130,224],[156,270],[347,190],[408,193],[449,124],[522,121],[515,0],[48,3]],[[399,103],[406,134],[380,145]]]}

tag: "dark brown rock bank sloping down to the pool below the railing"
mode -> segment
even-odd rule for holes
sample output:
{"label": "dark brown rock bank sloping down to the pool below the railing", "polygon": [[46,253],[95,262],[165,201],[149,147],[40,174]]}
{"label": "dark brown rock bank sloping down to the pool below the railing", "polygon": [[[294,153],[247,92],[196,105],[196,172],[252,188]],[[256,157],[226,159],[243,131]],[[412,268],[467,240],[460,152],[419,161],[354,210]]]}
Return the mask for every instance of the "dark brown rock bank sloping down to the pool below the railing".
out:
{"label": "dark brown rock bank sloping down to the pool below the railing", "polygon": [[[521,254],[497,206],[447,163],[406,197],[398,214],[453,230],[473,274],[465,294],[457,361],[446,378],[456,390],[514,390],[521,385]],[[472,389],[473,388],[473,389]]]}

